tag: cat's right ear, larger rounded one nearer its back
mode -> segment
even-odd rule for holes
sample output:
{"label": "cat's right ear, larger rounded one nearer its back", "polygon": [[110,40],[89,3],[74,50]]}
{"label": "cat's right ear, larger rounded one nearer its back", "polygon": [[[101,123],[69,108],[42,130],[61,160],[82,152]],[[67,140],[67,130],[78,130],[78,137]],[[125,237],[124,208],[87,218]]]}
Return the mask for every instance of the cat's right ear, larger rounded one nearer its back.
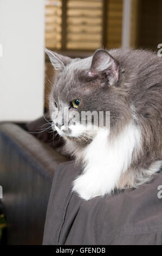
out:
{"label": "cat's right ear, larger rounded one nearer its back", "polygon": [[105,74],[108,77],[109,84],[111,85],[119,79],[118,63],[106,50],[99,49],[93,54],[88,75],[98,76],[101,74]]}

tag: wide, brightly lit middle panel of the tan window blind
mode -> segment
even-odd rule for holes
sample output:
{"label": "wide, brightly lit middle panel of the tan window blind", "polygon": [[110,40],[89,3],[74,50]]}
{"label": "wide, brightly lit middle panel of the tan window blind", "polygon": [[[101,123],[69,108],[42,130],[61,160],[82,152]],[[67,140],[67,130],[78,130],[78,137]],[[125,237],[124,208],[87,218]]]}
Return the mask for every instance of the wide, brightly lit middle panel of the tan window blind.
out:
{"label": "wide, brightly lit middle panel of the tan window blind", "polygon": [[67,2],[67,48],[96,49],[102,46],[103,1]]}

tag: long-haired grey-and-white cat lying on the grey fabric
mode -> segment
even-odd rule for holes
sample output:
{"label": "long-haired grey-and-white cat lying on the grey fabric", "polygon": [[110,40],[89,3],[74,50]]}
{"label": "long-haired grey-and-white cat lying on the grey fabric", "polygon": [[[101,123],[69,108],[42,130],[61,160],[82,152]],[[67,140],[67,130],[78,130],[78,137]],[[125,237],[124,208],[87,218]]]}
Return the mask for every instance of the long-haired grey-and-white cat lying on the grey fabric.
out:
{"label": "long-haired grey-and-white cat lying on the grey fabric", "polygon": [[[53,129],[83,167],[73,191],[89,200],[151,181],[162,165],[162,58],[129,48],[99,49],[84,59],[46,53],[56,70]],[[79,118],[66,129],[63,118],[55,121],[65,107],[68,123],[72,113],[109,111],[109,126],[94,130]]]}

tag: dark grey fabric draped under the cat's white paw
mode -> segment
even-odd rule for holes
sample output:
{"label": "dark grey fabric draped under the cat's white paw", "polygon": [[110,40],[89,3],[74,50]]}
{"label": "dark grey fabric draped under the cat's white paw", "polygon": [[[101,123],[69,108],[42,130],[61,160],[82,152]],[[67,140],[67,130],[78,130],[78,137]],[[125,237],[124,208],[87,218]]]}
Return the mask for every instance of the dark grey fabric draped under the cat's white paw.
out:
{"label": "dark grey fabric draped under the cat's white paw", "polygon": [[[81,173],[74,162],[56,170],[48,204],[43,245],[161,245],[162,174],[150,184],[89,201],[71,192]],[[161,193],[162,194],[162,193]]]}

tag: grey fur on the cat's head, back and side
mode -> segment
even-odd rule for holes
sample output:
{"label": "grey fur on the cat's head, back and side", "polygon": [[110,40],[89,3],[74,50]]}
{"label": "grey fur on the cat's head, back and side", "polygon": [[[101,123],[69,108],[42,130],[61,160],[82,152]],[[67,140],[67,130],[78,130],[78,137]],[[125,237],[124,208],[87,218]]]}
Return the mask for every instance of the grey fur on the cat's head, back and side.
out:
{"label": "grey fur on the cat's head, back and side", "polygon": [[[61,106],[70,106],[72,100],[81,99],[78,112],[111,112],[109,136],[112,139],[133,120],[140,127],[142,147],[133,154],[131,172],[121,177],[119,187],[135,187],[142,179],[144,182],[150,180],[148,177],[152,175],[151,172],[141,174],[141,170],[147,170],[153,162],[162,160],[162,58],[151,51],[119,48],[109,51],[114,66],[102,70],[102,59],[106,54],[107,51],[98,50],[85,59],[68,58],[67,61],[67,57],[61,57],[64,69],[57,72],[54,80],[50,116],[54,111],[51,102],[56,101],[61,109]],[[100,69],[95,68],[99,65]],[[89,71],[92,71],[92,76],[88,75]],[[117,71],[119,76],[115,77]],[[79,155],[93,138],[86,144],[76,138],[65,139],[68,151]],[[136,173],[133,174],[132,170]]]}

